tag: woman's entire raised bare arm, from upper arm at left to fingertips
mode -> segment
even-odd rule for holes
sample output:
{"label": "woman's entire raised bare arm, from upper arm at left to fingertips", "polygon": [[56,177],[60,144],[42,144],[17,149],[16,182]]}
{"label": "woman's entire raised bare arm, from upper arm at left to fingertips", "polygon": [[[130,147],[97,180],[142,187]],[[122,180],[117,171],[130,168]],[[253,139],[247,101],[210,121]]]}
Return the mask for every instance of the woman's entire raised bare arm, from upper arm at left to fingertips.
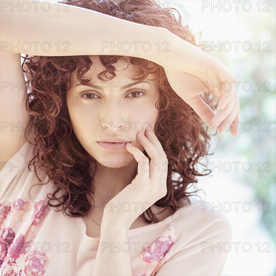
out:
{"label": "woman's entire raised bare arm, from upper arm at left to fingertips", "polygon": [[[24,2],[28,4],[28,2]],[[28,12],[26,11],[28,9]],[[210,90],[219,98],[216,114],[200,98],[202,81],[235,78],[214,58],[170,31],[132,23],[56,1],[1,2],[1,167],[25,142],[29,114],[20,54],[37,56],[124,55],[151,60],[164,67],[174,91],[207,125],[233,122],[236,135],[239,101],[234,90]],[[160,45],[169,49],[160,49]],[[165,52],[165,51],[166,52]],[[195,79],[195,81],[194,81]],[[194,83],[192,82],[194,81]],[[14,85],[18,85],[14,86]],[[21,137],[22,136],[22,137]]]}

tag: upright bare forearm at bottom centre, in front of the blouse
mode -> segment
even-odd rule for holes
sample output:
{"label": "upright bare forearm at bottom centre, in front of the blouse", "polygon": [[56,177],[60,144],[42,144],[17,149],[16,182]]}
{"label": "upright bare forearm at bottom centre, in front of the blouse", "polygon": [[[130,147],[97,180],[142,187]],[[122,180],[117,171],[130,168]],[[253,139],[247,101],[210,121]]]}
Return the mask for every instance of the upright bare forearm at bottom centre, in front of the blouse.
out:
{"label": "upright bare forearm at bottom centre, in front of the blouse", "polygon": [[130,253],[124,251],[122,246],[128,242],[128,229],[119,227],[119,223],[118,227],[116,225],[102,219],[93,275],[132,275]]}

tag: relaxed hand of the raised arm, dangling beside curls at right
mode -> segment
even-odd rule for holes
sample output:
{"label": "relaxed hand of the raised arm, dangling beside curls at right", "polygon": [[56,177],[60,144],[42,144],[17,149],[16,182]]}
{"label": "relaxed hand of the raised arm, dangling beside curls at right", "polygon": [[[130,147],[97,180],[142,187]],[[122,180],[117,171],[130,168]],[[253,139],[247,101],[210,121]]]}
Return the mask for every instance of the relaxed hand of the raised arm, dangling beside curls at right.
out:
{"label": "relaxed hand of the raised arm, dangling beside curls at right", "polygon": [[[219,132],[221,132],[221,124],[229,122],[231,133],[236,136],[240,122],[240,103],[234,84],[236,79],[219,60],[176,35],[171,38],[170,52],[163,56],[162,61],[171,87],[204,122],[209,123],[210,126],[220,124]],[[205,91],[202,88],[205,84],[203,81],[206,81],[206,84],[210,83],[208,91],[219,99],[220,110],[217,114],[200,97]],[[214,87],[211,86],[212,82]],[[215,85],[222,85],[223,82],[230,83],[232,89],[229,92],[223,91],[221,86],[215,87]],[[225,85],[227,91],[228,87],[229,85]],[[227,126],[229,124],[227,123]],[[215,128],[212,127],[212,129]]]}

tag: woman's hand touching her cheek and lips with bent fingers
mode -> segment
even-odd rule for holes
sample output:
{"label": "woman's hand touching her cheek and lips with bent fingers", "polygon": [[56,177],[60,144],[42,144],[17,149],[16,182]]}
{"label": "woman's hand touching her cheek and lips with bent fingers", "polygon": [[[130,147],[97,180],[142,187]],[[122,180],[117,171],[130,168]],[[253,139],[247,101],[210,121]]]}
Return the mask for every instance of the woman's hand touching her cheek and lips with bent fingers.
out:
{"label": "woman's hand touching her cheek and lips with bent fingers", "polygon": [[111,219],[116,225],[126,227],[127,230],[137,217],[167,194],[168,159],[158,137],[153,130],[146,130],[145,133],[144,131],[137,133],[137,140],[145,148],[151,161],[140,149],[126,144],[125,149],[134,156],[138,163],[137,175],[131,184],[107,204],[107,206],[112,206],[112,202],[114,206],[120,206],[124,202],[129,202],[131,210],[126,212],[120,208],[112,210],[105,207],[103,211],[103,216],[107,217],[105,221]]}

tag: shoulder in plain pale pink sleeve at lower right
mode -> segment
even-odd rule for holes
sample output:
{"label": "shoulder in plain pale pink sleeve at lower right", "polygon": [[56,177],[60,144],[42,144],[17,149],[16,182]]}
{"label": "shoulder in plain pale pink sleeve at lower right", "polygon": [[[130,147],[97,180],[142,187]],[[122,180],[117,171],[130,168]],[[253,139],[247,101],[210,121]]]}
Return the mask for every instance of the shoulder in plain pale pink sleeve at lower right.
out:
{"label": "shoulder in plain pale pink sleeve at lower right", "polygon": [[221,275],[232,242],[231,223],[224,213],[204,206],[210,205],[191,202],[172,215],[176,242],[156,275]]}

